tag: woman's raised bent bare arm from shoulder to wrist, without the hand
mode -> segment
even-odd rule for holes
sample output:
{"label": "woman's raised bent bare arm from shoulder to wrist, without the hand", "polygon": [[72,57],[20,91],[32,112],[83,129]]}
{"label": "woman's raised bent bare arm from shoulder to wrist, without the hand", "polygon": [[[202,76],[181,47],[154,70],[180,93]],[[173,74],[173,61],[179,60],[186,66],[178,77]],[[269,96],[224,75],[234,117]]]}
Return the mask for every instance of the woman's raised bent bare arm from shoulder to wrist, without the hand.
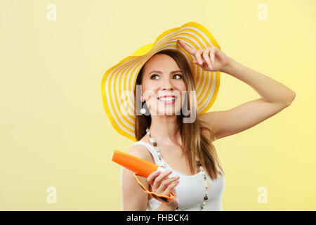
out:
{"label": "woman's raised bent bare arm from shoulder to wrist, without the hand", "polygon": [[237,105],[230,110],[213,111],[201,115],[202,120],[209,122],[209,127],[213,130],[216,139],[254,127],[287,108],[296,96],[295,92],[284,84],[251,70],[233,59],[221,72],[249,84],[261,98]]}

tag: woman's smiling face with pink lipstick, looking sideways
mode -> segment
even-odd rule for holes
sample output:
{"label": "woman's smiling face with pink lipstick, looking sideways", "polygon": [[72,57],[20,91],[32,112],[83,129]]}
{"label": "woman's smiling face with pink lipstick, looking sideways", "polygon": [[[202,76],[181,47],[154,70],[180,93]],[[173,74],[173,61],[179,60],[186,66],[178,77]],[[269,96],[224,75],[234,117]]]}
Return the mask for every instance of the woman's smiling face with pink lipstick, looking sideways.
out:
{"label": "woman's smiling face with pink lipstick, looking sideways", "polygon": [[151,115],[180,115],[187,91],[183,76],[171,56],[157,54],[147,61],[143,71],[141,101],[146,101]]}

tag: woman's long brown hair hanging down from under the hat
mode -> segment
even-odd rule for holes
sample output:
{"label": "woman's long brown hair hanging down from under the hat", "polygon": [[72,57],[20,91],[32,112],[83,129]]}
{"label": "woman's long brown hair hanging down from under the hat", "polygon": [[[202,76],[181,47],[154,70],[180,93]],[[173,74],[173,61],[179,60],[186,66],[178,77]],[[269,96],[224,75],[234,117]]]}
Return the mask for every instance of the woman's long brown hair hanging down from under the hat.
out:
{"label": "woman's long brown hair hanging down from under the hat", "polygon": [[[173,58],[173,60],[175,60],[178,64],[180,70],[183,71],[183,81],[185,82],[185,86],[187,87],[188,95],[190,96],[190,91],[196,91],[192,71],[190,70],[190,66],[182,53],[173,50],[163,50],[155,53],[155,55],[156,54],[166,54],[168,56],[171,56],[171,58]],[[143,65],[143,68],[144,66],[145,64]],[[142,84],[143,68],[140,69],[140,72],[138,73],[138,77],[136,79],[134,99],[136,99],[137,84]],[[196,158],[199,158],[204,171],[209,174],[211,179],[218,179],[218,174],[223,175],[224,172],[216,153],[216,148],[212,144],[212,142],[215,141],[215,136],[213,135],[213,131],[206,127],[206,122],[199,119],[199,115],[197,114],[196,96],[193,96],[193,103],[190,102],[190,98],[187,98],[187,110],[189,112],[193,112],[192,110],[195,110],[195,121],[183,123],[183,117],[189,118],[190,114],[183,115],[182,110],[180,115],[177,116],[178,129],[180,129],[180,136],[183,143],[183,146],[181,146],[182,152],[185,156],[187,164],[190,166],[190,171],[192,174],[195,173],[195,169],[197,168]],[[136,99],[136,101],[140,100]],[[146,103],[144,105],[146,105]],[[151,121],[152,119],[150,115],[138,115],[138,113],[136,113],[135,136],[137,141],[139,141],[143,138],[143,136],[146,135],[146,128],[150,127]],[[206,132],[207,134],[209,134],[208,136],[202,135],[202,131],[204,129],[209,131]]]}

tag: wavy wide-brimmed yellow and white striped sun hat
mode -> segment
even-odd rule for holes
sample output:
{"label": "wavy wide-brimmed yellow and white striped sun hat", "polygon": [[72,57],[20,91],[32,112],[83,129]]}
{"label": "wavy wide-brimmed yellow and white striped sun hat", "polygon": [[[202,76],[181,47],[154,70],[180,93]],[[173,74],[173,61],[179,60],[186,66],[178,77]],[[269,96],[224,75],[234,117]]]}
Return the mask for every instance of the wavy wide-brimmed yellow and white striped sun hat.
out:
{"label": "wavy wide-brimmed yellow and white striped sun hat", "polygon": [[160,34],[154,44],[145,44],[133,56],[121,60],[117,65],[105,72],[101,82],[101,92],[105,113],[112,126],[119,134],[132,141],[135,138],[136,103],[134,101],[134,86],[138,72],[158,51],[173,49],[185,56],[192,71],[197,90],[197,113],[206,113],[213,105],[220,85],[220,72],[202,70],[193,63],[192,55],[177,44],[181,39],[194,50],[218,46],[212,34],[202,25],[195,22],[185,23],[181,27],[166,30]]}

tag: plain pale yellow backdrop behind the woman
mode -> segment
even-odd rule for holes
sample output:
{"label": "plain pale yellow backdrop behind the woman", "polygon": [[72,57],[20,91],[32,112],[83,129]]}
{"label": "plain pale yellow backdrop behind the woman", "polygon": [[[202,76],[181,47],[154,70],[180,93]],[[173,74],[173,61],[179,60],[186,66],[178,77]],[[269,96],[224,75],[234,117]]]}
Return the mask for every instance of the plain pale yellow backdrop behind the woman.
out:
{"label": "plain pale yellow backdrop behind the woman", "polygon": [[[57,20],[46,15],[57,6]],[[258,20],[258,5],[268,20]],[[256,127],[214,142],[223,210],[316,210],[316,1],[0,1],[0,210],[120,210],[112,151],[133,143],[105,115],[105,71],[187,22],[296,92]],[[225,73],[211,110],[258,98]],[[46,201],[48,187],[57,203]],[[258,188],[268,203],[258,203]]]}

